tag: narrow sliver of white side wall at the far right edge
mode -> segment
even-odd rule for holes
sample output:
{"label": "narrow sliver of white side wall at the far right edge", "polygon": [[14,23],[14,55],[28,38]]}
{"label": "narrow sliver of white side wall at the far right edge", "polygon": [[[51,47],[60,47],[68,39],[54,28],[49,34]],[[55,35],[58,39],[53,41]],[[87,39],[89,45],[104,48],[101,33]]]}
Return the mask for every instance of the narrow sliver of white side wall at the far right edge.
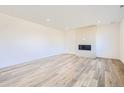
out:
{"label": "narrow sliver of white side wall at the far right edge", "polygon": [[120,23],[120,59],[124,63],[124,19]]}

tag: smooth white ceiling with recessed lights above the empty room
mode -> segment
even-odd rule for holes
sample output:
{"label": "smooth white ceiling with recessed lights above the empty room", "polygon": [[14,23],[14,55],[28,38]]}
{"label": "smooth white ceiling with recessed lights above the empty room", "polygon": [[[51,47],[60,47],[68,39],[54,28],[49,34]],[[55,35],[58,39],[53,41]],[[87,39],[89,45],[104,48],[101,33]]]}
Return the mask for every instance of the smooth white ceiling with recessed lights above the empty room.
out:
{"label": "smooth white ceiling with recessed lights above the empty room", "polygon": [[120,21],[119,5],[1,5],[0,12],[56,29]]}

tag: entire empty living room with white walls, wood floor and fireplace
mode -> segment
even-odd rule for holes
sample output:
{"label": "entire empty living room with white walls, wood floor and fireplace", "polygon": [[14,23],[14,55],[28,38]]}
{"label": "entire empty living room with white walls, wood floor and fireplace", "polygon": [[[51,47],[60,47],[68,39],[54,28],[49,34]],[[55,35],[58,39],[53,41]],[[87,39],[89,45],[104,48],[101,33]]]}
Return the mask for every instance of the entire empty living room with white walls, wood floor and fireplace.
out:
{"label": "entire empty living room with white walls, wood floor and fireplace", "polygon": [[0,5],[0,87],[124,87],[124,5]]}

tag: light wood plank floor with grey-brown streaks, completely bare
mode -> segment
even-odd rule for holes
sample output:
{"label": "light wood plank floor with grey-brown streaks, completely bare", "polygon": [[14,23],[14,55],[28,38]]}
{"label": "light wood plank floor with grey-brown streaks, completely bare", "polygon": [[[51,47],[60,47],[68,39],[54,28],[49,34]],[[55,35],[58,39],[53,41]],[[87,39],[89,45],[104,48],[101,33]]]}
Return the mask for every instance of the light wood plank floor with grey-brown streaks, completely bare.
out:
{"label": "light wood plank floor with grey-brown streaks, completely bare", "polygon": [[0,87],[123,87],[119,60],[63,54],[0,69]]}

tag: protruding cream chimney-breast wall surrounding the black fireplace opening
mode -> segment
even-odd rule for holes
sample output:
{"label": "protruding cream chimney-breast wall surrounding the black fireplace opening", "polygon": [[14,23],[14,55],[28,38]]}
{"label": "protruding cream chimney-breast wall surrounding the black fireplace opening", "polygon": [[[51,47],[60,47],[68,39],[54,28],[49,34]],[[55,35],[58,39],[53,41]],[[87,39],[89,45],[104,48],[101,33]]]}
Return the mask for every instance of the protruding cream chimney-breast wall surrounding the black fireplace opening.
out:
{"label": "protruding cream chimney-breast wall surrounding the black fireplace opening", "polygon": [[[78,45],[91,45],[91,51],[78,50]],[[76,54],[83,57],[96,57],[96,26],[76,30]]]}

